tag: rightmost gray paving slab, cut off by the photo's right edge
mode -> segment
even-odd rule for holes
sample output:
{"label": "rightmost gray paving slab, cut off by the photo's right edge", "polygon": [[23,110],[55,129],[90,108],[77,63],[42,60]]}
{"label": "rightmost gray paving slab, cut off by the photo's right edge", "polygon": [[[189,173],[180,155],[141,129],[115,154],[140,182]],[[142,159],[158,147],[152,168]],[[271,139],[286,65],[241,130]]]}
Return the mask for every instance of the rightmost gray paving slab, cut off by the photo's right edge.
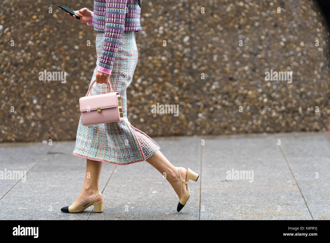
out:
{"label": "rightmost gray paving slab, cut off by the photo's right edge", "polygon": [[330,146],[327,133],[276,134],[315,220],[330,220]]}

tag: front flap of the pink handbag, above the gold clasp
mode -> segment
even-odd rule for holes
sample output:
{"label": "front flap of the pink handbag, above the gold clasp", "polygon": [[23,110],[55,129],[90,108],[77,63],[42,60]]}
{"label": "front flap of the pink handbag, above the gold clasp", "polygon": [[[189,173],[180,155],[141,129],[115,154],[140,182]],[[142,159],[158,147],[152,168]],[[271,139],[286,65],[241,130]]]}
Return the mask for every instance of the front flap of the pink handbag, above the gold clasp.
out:
{"label": "front flap of the pink handbag, above the gold clasp", "polygon": [[79,99],[80,111],[93,111],[101,107],[101,109],[116,107],[118,92],[110,92],[105,94],[88,95]]}

